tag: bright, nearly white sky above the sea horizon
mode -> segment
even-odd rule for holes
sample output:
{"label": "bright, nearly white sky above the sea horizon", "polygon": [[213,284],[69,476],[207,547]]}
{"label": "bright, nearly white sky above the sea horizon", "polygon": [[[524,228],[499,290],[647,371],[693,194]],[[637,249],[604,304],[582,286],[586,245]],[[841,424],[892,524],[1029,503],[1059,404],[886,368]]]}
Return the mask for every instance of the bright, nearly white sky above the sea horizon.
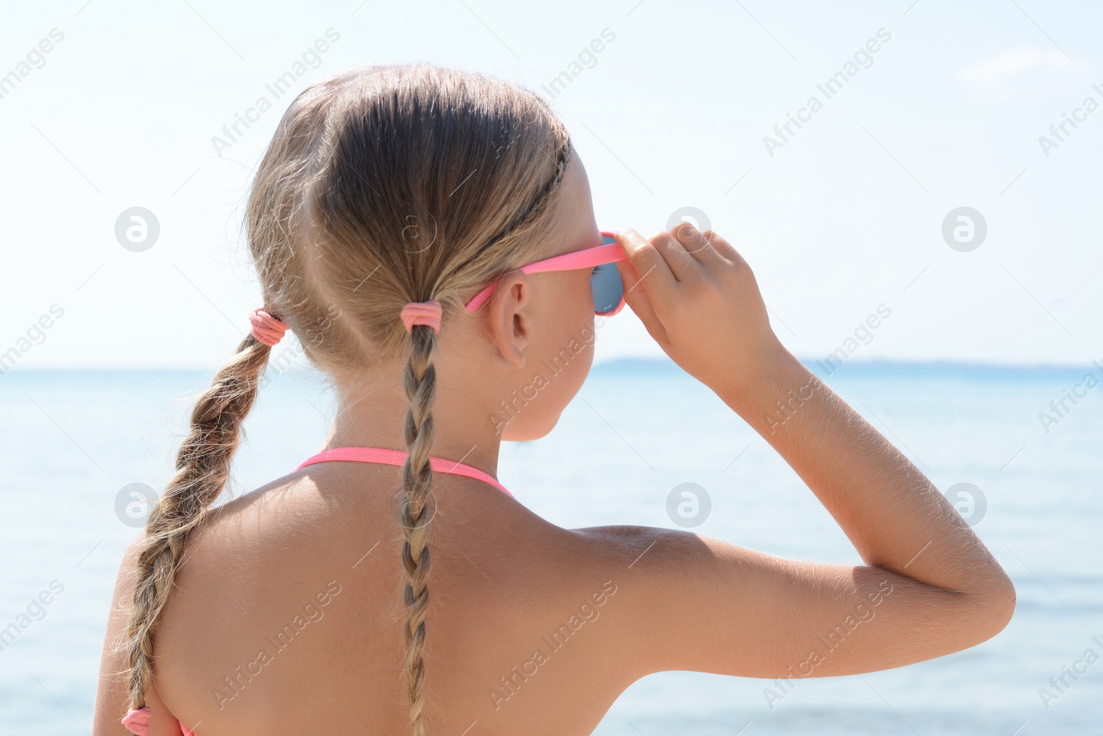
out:
{"label": "bright, nearly white sky above the sea horizon", "polygon": [[[240,217],[288,102],[340,70],[428,61],[537,90],[566,72],[553,105],[599,225],[652,235],[705,213],[801,358],[1086,364],[1103,359],[1101,15],[1038,0],[12,4],[0,353],[221,364],[260,306]],[[277,98],[266,85],[288,71]],[[249,114],[259,97],[271,109]],[[239,115],[254,121],[216,150]],[[148,249],[116,236],[131,207],[159,224]],[[954,213],[947,242],[960,207],[983,225]],[[628,309],[599,332],[598,361],[661,354]]]}

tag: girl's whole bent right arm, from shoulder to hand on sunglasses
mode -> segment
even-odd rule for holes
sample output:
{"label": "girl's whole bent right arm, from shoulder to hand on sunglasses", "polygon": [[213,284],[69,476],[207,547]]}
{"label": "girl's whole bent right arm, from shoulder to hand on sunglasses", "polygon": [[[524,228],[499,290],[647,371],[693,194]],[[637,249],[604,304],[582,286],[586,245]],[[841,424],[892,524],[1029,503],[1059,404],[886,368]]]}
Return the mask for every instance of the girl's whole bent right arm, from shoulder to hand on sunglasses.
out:
{"label": "girl's whole bent right arm, from shoulder to hand on sunglasses", "polygon": [[687,224],[619,241],[628,303],[651,335],[781,454],[866,562],[783,559],[686,532],[580,530],[613,551],[610,572],[646,550],[620,575],[620,600],[635,599],[625,644],[639,675],[868,672],[998,633],[1015,609],[1007,575],[931,481],[780,344],[735,248]]}

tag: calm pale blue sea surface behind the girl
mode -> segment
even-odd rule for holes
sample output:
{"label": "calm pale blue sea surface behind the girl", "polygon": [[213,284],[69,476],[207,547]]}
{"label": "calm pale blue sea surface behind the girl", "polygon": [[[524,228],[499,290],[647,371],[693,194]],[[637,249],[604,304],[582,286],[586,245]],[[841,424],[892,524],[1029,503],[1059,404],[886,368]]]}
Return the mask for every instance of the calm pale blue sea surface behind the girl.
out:
{"label": "calm pale blue sea surface behind the girl", "polygon": [[[773,702],[768,689],[781,691],[770,681],[654,674],[595,733],[1103,732],[1103,659],[1094,662],[1103,658],[1103,386],[1067,402],[1063,416],[1050,409],[1088,372],[1103,380],[1092,365],[846,364],[827,377],[944,492],[979,489],[972,510],[965,497],[954,500],[965,501],[963,513],[1015,580],[1018,608],[1003,633],[921,664],[799,681]],[[9,631],[0,638],[0,734],[90,730],[111,586],[136,533],[116,500],[131,483],[164,487],[185,430],[182,399],[208,381],[197,372],[0,376],[0,629]],[[276,377],[246,422],[234,493],[312,455],[332,409],[317,374]],[[1057,419],[1049,431],[1041,412]],[[711,500],[695,532],[786,557],[861,562],[773,449],[708,388],[661,361],[595,367],[548,437],[503,445],[499,478],[568,527],[676,529],[667,495],[693,482]],[[1065,666],[1082,674],[1073,680]],[[1068,686],[1054,687],[1051,678],[1061,676]]]}

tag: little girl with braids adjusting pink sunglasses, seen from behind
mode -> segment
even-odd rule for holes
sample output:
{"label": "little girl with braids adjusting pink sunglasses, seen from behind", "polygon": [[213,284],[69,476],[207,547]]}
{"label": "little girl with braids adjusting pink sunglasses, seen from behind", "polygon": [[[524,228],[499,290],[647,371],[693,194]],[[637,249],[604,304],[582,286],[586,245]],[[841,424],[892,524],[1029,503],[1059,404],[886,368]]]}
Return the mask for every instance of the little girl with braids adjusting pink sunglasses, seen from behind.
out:
{"label": "little girl with braids adjusting pink sunglasses, seen from behind", "polygon": [[[581,735],[652,672],[870,672],[1010,619],[992,554],[781,345],[736,248],[688,224],[599,230],[532,92],[429,64],[319,82],[280,120],[247,224],[263,308],[122,561],[97,736]],[[560,529],[497,482],[501,441],[555,427],[595,314],[625,303],[865,565]],[[295,472],[212,508],[287,330],[333,380],[333,429]]]}

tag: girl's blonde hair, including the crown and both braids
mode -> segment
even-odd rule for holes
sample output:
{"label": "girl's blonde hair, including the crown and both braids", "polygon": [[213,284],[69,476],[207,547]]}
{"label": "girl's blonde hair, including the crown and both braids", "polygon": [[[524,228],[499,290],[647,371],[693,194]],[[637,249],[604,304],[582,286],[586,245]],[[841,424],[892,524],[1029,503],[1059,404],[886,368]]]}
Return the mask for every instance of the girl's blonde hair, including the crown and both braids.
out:
{"label": "girl's blonde hair, including the crown and both braids", "polygon": [[[479,289],[545,255],[570,156],[563,122],[520,85],[431,64],[366,66],[296,97],[249,194],[248,243],[266,311],[288,323],[311,363],[352,380],[408,354],[397,515],[415,736],[426,733],[437,335],[427,326],[407,332],[399,312],[435,299],[445,330]],[[132,708],[144,704],[157,622],[188,534],[226,483],[269,353],[246,337],[197,397],[175,474],[150,513],[127,629]]]}

